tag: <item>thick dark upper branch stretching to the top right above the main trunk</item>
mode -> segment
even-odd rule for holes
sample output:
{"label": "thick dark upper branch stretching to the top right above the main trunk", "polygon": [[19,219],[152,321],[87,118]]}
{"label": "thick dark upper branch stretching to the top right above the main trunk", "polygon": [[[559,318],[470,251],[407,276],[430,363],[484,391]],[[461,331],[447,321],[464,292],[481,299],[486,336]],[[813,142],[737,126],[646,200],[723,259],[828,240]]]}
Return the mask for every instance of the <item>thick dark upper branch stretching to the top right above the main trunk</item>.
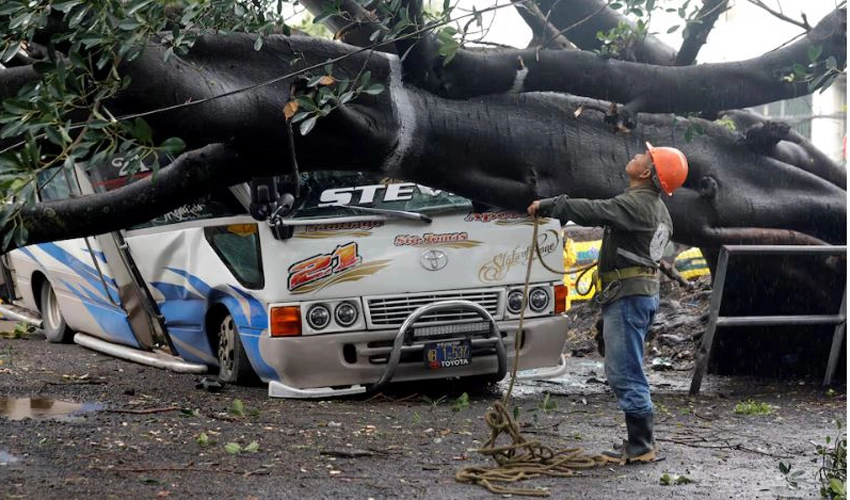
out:
{"label": "thick dark upper branch stretching to the top right above the main trunk", "polygon": [[[826,16],[805,38],[760,57],[732,63],[657,67],[607,60],[583,51],[516,50],[480,54],[459,50],[443,67],[436,47],[419,71],[429,91],[450,98],[501,92],[554,91],[619,103],[643,99],[640,111],[685,113],[734,109],[811,92],[806,81],[783,81],[795,63],[808,64],[808,49],[846,64],[846,10]],[[518,60],[522,64],[518,64]],[[408,74],[410,74],[408,72]]]}

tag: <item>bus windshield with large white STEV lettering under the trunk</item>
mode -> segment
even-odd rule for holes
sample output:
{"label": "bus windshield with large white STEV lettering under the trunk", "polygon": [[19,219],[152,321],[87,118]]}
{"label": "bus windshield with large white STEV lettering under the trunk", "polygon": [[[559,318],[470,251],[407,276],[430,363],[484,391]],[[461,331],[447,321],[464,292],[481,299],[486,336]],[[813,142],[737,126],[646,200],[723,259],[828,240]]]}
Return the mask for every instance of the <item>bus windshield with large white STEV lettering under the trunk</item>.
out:
{"label": "bus windshield with large white STEV lettering under the trunk", "polygon": [[[293,217],[338,217],[357,213],[346,206],[434,213],[472,207],[467,198],[374,172],[309,172],[301,176],[301,196]],[[361,212],[362,213],[362,212]]]}

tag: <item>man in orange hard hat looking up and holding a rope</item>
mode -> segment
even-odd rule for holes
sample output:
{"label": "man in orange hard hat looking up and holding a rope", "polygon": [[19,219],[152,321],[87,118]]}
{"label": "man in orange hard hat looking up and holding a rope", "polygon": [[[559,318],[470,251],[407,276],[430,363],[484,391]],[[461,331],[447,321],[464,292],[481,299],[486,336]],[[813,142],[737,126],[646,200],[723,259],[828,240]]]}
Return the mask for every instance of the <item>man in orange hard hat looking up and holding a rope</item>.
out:
{"label": "man in orange hard hat looking up and holding a rope", "polygon": [[602,305],[605,374],[626,415],[628,439],[602,457],[619,463],[655,459],[653,406],[643,371],[643,343],[658,310],[658,267],[673,233],[661,201],[688,175],[681,151],[653,147],[626,165],[629,187],[608,200],[570,199],[566,195],[537,200],[529,215],[557,217],[584,226],[605,226],[599,252],[597,302]]}

